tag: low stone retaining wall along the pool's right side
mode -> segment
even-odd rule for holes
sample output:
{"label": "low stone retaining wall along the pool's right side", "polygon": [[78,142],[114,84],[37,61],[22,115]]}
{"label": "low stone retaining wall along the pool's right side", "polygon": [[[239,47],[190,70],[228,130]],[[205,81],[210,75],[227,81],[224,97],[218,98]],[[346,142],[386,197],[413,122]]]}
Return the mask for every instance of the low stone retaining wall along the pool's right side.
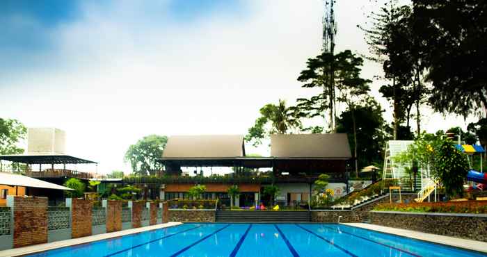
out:
{"label": "low stone retaining wall along the pool's right side", "polygon": [[487,242],[487,215],[468,213],[370,212],[372,224]]}

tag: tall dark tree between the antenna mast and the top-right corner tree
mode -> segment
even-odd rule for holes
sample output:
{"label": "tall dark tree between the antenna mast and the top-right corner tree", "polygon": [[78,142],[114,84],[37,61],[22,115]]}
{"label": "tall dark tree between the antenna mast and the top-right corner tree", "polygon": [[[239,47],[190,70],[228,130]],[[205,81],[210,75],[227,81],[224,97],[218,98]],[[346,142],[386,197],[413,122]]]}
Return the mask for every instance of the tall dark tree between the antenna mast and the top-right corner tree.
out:
{"label": "tall dark tree between the antenna mast and the top-right corner tree", "polygon": [[373,56],[369,58],[383,66],[384,77],[390,83],[379,92],[392,101],[393,137],[399,140],[399,126],[406,120],[410,126],[411,109],[416,106],[417,132],[420,133],[420,105],[426,94],[422,83],[422,39],[417,38],[410,6],[400,6],[397,0],[384,3],[378,12],[369,15],[371,25],[363,28]]}

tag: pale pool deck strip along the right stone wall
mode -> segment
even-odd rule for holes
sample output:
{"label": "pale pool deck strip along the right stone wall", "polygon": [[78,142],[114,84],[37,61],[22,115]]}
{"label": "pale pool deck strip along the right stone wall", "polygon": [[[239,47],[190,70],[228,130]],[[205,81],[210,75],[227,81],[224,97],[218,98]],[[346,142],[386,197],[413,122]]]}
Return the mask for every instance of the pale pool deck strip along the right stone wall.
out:
{"label": "pale pool deck strip along the right stone wall", "polygon": [[451,236],[446,236],[446,235],[435,235],[435,234],[423,233],[418,231],[396,229],[396,228],[391,228],[389,226],[378,226],[378,225],[366,224],[366,223],[342,223],[342,224],[355,226],[362,229],[369,229],[372,231],[378,231],[382,233],[389,233],[392,235],[401,235],[406,238],[414,238],[417,240],[434,242],[436,244],[445,244],[451,247],[470,249],[482,253],[487,253],[487,242],[468,240],[463,238],[453,238]]}

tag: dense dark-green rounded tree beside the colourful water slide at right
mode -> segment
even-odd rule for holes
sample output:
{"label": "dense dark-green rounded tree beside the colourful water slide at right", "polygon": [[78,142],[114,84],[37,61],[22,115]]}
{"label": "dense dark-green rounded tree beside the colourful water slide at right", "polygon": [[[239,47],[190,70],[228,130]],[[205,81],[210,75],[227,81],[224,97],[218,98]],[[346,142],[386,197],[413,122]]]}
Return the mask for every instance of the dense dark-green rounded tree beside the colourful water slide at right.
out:
{"label": "dense dark-green rounded tree beside the colourful water slide at right", "polygon": [[450,197],[461,197],[468,172],[467,156],[458,151],[450,141],[443,142],[438,151],[436,173],[445,187],[445,192]]}

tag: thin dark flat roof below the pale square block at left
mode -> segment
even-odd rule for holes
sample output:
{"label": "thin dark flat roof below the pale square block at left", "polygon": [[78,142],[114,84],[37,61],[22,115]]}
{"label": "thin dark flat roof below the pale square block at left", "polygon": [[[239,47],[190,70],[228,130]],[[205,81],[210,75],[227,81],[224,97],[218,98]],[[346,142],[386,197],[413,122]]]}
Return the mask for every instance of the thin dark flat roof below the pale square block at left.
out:
{"label": "thin dark flat roof below the pale square block at left", "polygon": [[26,164],[81,164],[81,163],[96,163],[93,160],[85,160],[74,156],[67,156],[63,154],[13,154],[0,156],[0,160],[8,160],[13,163]]}

